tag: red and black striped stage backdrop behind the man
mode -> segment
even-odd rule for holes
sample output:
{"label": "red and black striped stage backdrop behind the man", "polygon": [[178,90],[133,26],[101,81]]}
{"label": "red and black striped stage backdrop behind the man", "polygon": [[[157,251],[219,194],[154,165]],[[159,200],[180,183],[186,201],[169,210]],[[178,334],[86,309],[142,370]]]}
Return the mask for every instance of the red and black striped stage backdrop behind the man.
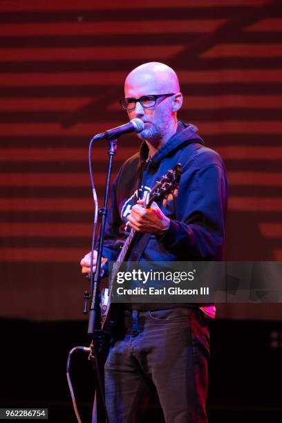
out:
{"label": "red and black striped stage backdrop behind the man", "polygon": [[[228,260],[282,260],[282,8],[267,0],[2,0],[1,317],[80,319],[90,249],[92,135],[127,122],[132,68],[180,77],[179,116],[229,173]],[[138,150],[124,136],[115,172]],[[93,149],[102,205],[106,144]],[[222,317],[280,319],[279,306],[221,306]]]}

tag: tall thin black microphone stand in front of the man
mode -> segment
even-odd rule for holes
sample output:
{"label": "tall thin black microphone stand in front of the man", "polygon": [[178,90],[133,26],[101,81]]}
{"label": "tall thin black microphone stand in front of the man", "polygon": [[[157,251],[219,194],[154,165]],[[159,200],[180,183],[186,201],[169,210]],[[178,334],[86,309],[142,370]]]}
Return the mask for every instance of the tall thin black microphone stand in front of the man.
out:
{"label": "tall thin black microphone stand in front of the man", "polygon": [[[104,195],[104,206],[99,209],[99,215],[102,216],[102,222],[100,227],[100,238],[97,250],[97,264],[96,272],[94,278],[94,286],[91,292],[91,306],[89,310],[89,319],[88,319],[88,335],[91,335],[91,353],[88,359],[91,360],[94,371],[95,371],[95,403],[97,404],[97,422],[102,423],[106,420],[109,422],[109,417],[106,412],[106,403],[104,397],[104,388],[102,386],[102,379],[100,376],[100,368],[98,358],[102,355],[102,349],[104,344],[104,337],[101,330],[100,323],[100,272],[101,272],[101,263],[102,263],[102,251],[104,245],[104,234],[106,228],[106,216],[108,214],[108,200],[109,200],[109,191],[110,191],[110,182],[111,182],[111,171],[113,167],[113,156],[115,156],[115,151],[117,149],[117,139],[109,140],[108,144],[108,155],[109,155],[109,164],[108,164],[108,173],[106,178],[106,189]],[[88,297],[90,298],[90,297]],[[104,377],[103,377],[104,380]],[[100,400],[101,404],[96,400]],[[99,415],[99,417],[98,417]]]}

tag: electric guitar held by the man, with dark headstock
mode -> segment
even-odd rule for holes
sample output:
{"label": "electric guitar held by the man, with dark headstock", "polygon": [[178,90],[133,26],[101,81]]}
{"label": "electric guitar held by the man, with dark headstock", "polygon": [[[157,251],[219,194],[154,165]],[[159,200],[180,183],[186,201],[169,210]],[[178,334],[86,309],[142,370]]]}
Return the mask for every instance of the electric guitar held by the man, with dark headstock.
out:
{"label": "electric guitar held by the man, with dark headstock", "polygon": [[[181,164],[176,164],[173,169],[169,169],[167,173],[162,176],[162,178],[156,182],[156,185],[151,189],[149,194],[147,194],[147,198],[144,202],[144,207],[149,209],[153,201],[162,200],[167,194],[169,194],[174,189],[178,188],[179,181],[181,176]],[[113,326],[115,325],[117,310],[113,310],[111,306],[111,293],[113,290],[113,283],[115,278],[118,274],[120,269],[120,265],[123,261],[126,260],[128,256],[129,250],[131,245],[133,245],[133,241],[137,236],[137,231],[131,228],[129,232],[129,236],[126,238],[124,245],[122,246],[122,250],[118,255],[118,259],[116,259],[115,263],[113,264],[111,277],[109,278],[109,288],[104,288],[101,294],[101,328],[104,333],[111,333]]]}

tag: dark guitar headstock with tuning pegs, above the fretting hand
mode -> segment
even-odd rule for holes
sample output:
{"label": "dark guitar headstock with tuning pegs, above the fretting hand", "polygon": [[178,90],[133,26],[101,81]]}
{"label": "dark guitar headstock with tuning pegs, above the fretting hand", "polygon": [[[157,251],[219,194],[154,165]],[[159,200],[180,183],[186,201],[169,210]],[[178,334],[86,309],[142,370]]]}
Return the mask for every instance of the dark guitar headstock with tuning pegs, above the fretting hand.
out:
{"label": "dark guitar headstock with tuning pegs, above the fretting hand", "polygon": [[147,201],[147,207],[150,207],[153,201],[158,201],[167,196],[171,191],[178,188],[182,168],[181,164],[176,164],[173,169],[169,169],[167,173],[156,183],[151,189],[149,199]]}

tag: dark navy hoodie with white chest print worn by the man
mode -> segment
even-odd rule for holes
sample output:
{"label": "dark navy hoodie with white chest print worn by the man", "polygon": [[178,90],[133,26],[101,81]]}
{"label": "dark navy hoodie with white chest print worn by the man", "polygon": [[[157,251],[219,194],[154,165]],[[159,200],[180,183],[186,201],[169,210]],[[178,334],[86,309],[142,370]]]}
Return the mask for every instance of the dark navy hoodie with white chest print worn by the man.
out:
{"label": "dark navy hoodie with white chest print worn by the man", "polygon": [[124,162],[113,182],[107,216],[103,256],[109,261],[118,255],[131,207],[178,163],[182,164],[178,191],[158,203],[171,219],[170,227],[163,236],[150,236],[140,260],[223,260],[226,169],[218,153],[204,147],[196,131],[196,126],[178,120],[176,133],[150,160],[147,144],[142,142],[140,152]]}

